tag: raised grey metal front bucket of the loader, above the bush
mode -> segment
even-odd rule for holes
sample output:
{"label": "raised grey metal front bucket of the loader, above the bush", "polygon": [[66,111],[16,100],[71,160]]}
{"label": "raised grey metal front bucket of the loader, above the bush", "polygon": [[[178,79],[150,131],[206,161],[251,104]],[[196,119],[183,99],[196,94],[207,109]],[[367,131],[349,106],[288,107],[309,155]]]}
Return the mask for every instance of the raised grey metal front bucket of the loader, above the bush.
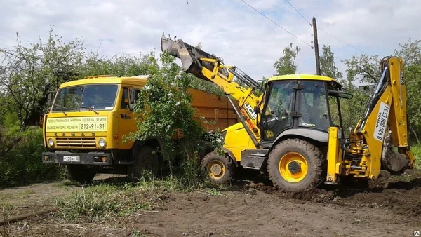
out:
{"label": "raised grey metal front bucket of the loader, above the bush", "polygon": [[[161,37],[161,50],[168,50],[170,55],[180,58],[183,71],[192,73],[195,76],[206,81],[208,81],[209,79],[206,78],[206,76],[203,76],[201,72],[202,67],[206,67],[206,69],[213,71],[215,63],[201,61],[200,59],[218,59],[215,55],[211,55],[201,50],[200,48],[196,48],[189,45],[188,43],[184,43],[181,39],[173,41],[172,39],[167,38],[166,36]],[[225,76],[228,76],[226,70],[222,73],[225,74]]]}

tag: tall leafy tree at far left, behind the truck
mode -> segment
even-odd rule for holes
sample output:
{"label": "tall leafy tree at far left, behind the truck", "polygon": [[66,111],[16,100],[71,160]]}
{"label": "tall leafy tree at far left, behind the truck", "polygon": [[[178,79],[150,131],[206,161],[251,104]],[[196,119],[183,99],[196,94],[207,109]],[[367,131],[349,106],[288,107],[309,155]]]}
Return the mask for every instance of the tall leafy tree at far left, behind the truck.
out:
{"label": "tall leafy tree at far left, behind the truck", "polygon": [[[0,104],[13,113],[20,125],[18,132],[39,122],[46,107],[48,92],[64,81],[77,78],[85,57],[83,43],[75,39],[65,43],[50,30],[48,40],[24,46],[17,34],[16,46],[0,48]],[[19,133],[2,132],[0,156],[20,142]]]}

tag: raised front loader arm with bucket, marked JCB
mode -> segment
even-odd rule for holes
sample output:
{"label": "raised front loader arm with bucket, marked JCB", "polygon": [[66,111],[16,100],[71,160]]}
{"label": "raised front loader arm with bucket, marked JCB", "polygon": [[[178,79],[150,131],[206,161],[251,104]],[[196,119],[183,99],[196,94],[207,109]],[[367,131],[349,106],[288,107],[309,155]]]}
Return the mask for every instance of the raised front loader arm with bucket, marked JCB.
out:
{"label": "raised front loader arm with bucket, marked JCB", "polygon": [[[259,107],[263,95],[255,95],[255,90],[259,88],[256,81],[235,66],[224,65],[220,58],[184,43],[181,39],[173,41],[162,36],[161,50],[168,50],[171,55],[180,58],[182,69],[185,72],[192,73],[194,76],[215,83],[222,88],[229,102],[236,109],[236,114],[253,143],[259,147],[260,130],[257,127],[258,112],[255,111],[255,108]],[[239,101],[238,107],[234,106],[229,96]]]}

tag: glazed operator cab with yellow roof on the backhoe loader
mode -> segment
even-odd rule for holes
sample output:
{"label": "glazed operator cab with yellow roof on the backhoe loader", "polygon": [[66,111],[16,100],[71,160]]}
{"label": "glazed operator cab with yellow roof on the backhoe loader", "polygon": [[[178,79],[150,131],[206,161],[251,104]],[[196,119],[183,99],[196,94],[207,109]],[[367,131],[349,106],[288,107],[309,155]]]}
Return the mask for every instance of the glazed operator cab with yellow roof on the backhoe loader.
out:
{"label": "glazed operator cab with yellow roof on the backhoe loader", "polygon": [[327,142],[330,126],[342,128],[339,97],[352,98],[342,92],[334,79],[314,75],[285,75],[269,79],[260,127],[262,145],[269,146],[278,137],[295,130],[297,134],[323,137]]}

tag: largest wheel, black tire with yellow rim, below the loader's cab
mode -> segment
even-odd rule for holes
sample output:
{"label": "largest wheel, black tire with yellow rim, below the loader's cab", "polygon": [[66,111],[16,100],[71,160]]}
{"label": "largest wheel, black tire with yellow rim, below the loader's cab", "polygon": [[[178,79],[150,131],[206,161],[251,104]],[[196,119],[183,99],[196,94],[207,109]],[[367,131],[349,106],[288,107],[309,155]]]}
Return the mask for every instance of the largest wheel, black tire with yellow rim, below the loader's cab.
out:
{"label": "largest wheel, black tire with yellow rim, below the loader's cab", "polygon": [[323,154],[313,144],[299,139],[287,139],[276,144],[270,152],[267,172],[278,189],[302,191],[323,182],[325,163]]}

